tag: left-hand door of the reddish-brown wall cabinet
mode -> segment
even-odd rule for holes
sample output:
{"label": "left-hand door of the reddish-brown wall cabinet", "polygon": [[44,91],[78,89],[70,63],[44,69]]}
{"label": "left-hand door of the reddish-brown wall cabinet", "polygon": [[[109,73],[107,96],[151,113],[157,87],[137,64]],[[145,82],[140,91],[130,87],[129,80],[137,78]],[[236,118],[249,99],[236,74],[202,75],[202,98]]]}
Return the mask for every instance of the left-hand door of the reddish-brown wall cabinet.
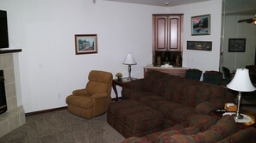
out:
{"label": "left-hand door of the reddish-brown wall cabinet", "polygon": [[168,48],[168,16],[154,15],[153,17],[153,49],[166,51]]}

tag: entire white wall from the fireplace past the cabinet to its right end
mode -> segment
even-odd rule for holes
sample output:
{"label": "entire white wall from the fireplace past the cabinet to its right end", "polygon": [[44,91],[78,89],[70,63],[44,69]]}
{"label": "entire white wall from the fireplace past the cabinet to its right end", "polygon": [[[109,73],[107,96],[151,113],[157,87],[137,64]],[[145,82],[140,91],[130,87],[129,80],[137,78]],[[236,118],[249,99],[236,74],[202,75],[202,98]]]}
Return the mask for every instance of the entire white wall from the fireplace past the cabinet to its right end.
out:
{"label": "entire white wall from the fireplace past the cabinet to its right end", "polygon": [[[16,57],[20,103],[26,113],[66,106],[66,96],[84,87],[91,69],[128,75],[122,61],[129,51],[138,63],[132,76],[143,77],[143,67],[152,63],[152,14],[184,13],[184,47],[187,40],[213,41],[213,51],[184,49],[184,65],[217,69],[220,1],[168,10],[103,0],[1,0],[0,9],[8,11],[10,48],[22,49]],[[205,14],[211,15],[211,34],[190,36],[190,16]],[[89,33],[97,34],[98,53],[75,55],[74,34]]]}

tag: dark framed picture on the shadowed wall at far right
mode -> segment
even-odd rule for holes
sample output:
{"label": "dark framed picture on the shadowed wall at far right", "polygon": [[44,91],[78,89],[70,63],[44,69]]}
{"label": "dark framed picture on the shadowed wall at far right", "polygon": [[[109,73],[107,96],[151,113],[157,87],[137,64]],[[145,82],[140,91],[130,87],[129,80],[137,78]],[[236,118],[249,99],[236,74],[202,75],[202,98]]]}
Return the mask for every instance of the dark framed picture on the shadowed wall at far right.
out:
{"label": "dark framed picture on the shadowed wall at far right", "polygon": [[246,39],[228,39],[228,52],[245,52]]}

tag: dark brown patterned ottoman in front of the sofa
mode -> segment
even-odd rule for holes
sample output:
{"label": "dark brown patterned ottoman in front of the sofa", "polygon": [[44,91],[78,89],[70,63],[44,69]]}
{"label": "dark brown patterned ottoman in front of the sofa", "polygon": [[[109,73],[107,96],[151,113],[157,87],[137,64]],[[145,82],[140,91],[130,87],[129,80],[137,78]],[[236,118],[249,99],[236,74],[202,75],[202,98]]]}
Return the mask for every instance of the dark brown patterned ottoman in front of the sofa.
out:
{"label": "dark brown patterned ottoman in front of the sofa", "polygon": [[158,111],[134,100],[109,104],[107,121],[125,138],[144,136],[164,128],[164,116]]}

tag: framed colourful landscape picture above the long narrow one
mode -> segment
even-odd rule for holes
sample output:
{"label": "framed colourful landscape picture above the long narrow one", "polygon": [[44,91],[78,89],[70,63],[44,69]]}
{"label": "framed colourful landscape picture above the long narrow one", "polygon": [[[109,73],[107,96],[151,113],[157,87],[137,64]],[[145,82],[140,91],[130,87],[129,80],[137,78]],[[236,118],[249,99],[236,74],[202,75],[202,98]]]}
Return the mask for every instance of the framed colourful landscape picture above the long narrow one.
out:
{"label": "framed colourful landscape picture above the long narrow one", "polygon": [[210,15],[198,15],[191,17],[192,35],[210,34]]}

